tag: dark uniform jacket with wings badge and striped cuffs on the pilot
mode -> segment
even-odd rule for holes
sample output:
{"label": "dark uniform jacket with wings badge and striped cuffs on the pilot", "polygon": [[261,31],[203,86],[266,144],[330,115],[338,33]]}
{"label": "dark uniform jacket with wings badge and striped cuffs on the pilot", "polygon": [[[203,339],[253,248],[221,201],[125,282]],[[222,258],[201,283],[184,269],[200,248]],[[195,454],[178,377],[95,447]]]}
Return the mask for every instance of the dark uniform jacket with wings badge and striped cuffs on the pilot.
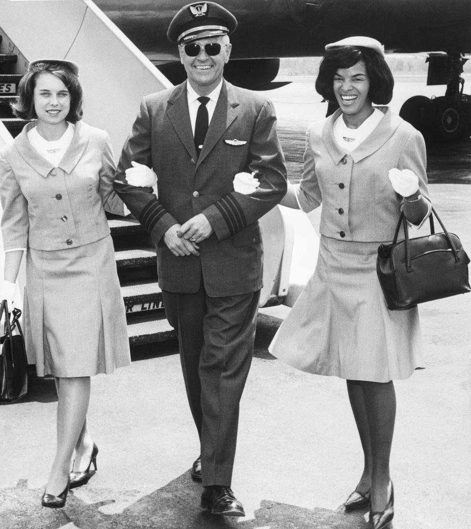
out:
{"label": "dark uniform jacket with wings badge and striped cuffs on the pilot", "polygon": [[[150,188],[120,183],[131,160],[154,169],[158,199]],[[241,171],[256,171],[260,187],[254,196],[234,191],[234,175]],[[210,296],[246,294],[262,287],[257,220],[286,193],[276,116],[265,98],[224,81],[197,158],[186,81],[145,97],[114,186],[157,245],[162,289],[192,293],[201,276]],[[164,233],[198,213],[206,215],[214,233],[199,244],[199,257],[175,257],[162,240]]]}

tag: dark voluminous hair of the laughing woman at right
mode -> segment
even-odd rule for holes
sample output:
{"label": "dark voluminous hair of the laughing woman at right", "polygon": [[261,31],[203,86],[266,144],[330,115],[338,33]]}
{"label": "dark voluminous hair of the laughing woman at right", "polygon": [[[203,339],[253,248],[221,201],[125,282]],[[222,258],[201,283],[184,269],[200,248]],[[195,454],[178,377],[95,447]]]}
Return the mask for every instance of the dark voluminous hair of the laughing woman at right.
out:
{"label": "dark voluminous hair of the laughing woman at right", "polygon": [[341,46],[325,52],[316,79],[317,92],[327,101],[336,101],[333,90],[336,71],[339,68],[351,68],[361,60],[365,62],[370,81],[368,96],[371,102],[387,105],[393,97],[393,74],[384,57],[370,48],[360,46]]}

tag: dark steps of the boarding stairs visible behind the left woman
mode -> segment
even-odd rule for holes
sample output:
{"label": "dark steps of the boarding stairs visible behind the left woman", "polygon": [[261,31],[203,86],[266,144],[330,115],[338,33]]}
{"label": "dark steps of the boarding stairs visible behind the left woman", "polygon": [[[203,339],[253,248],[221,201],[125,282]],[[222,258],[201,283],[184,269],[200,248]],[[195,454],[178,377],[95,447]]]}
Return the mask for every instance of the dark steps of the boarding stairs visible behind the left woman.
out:
{"label": "dark steps of the boarding stairs visible behind the left woman", "polygon": [[[10,103],[15,101],[25,64],[6,33],[0,28],[0,121],[15,137],[27,123],[16,118]],[[165,318],[162,292],[157,283],[155,247],[137,220],[107,214],[115,260],[126,307],[129,343],[141,345],[175,337]]]}

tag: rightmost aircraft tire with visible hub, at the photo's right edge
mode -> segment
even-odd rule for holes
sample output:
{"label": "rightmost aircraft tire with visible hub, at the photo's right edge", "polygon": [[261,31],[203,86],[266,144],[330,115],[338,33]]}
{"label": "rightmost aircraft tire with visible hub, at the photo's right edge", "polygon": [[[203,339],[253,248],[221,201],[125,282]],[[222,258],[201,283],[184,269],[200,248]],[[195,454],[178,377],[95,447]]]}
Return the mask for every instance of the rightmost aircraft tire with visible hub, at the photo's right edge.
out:
{"label": "rightmost aircraft tire with visible hub, at the photo's right edge", "polygon": [[469,104],[444,96],[438,97],[434,106],[433,129],[439,138],[453,141],[469,136]]}

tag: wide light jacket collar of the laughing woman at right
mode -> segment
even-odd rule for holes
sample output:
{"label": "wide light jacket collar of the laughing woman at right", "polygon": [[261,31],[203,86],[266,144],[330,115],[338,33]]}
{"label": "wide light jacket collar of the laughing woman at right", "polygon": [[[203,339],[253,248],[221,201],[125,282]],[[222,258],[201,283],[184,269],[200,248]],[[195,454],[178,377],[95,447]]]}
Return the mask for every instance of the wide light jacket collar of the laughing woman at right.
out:
{"label": "wide light jacket collar of the laughing woman at right", "polygon": [[[401,124],[402,118],[393,114],[389,107],[386,107],[384,113],[383,119],[378,123],[375,130],[350,153],[355,163],[370,156],[370,154],[377,151],[380,147],[383,147]],[[340,108],[337,109],[327,118],[322,129],[322,139],[335,164],[339,163],[346,154],[341,150],[340,145],[334,138],[334,122],[341,114],[342,111]]]}

